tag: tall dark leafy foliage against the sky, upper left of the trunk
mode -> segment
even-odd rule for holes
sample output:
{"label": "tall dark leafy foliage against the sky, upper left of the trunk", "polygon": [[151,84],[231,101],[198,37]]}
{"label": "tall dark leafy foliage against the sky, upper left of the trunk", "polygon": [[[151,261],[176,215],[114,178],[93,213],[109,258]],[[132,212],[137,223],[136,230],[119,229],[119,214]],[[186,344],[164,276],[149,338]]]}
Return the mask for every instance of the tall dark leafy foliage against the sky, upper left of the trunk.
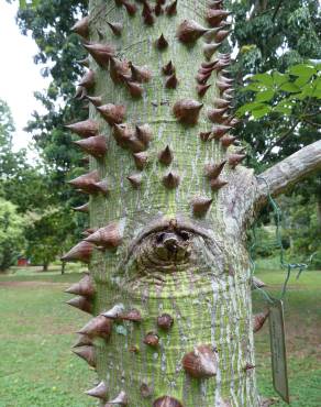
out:
{"label": "tall dark leafy foliage against the sky, upper left of the trunk", "polygon": [[[35,97],[46,107],[47,113],[34,112],[27,129],[33,133],[43,158],[55,170],[55,187],[63,187],[70,167],[81,165],[80,154],[73,147],[71,136],[64,124],[85,119],[81,102],[73,99],[75,84],[82,75],[77,64],[85,57],[78,35],[70,33],[79,14],[86,12],[86,1],[44,1],[19,11],[22,33],[29,30],[38,46],[34,61],[44,64],[43,76],[53,78],[46,92]],[[64,188],[65,189],[65,188]]]}

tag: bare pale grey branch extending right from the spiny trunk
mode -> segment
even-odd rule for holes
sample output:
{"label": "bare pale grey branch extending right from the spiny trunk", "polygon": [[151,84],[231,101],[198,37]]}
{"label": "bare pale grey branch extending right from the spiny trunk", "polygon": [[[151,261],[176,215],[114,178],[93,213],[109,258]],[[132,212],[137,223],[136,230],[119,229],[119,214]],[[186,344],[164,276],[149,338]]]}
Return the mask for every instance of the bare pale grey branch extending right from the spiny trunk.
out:
{"label": "bare pale grey branch extending right from the spiny trunk", "polygon": [[268,193],[276,197],[302,178],[318,172],[321,172],[321,140],[299,150],[258,175],[256,209],[266,204]]}

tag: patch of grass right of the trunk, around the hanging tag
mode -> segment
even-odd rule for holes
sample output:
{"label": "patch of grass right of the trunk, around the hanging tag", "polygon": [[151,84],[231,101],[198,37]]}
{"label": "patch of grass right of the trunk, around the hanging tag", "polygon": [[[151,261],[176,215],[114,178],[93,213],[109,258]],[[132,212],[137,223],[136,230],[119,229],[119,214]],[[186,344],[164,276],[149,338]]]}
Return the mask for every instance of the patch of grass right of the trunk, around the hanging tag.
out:
{"label": "patch of grass right of the trunk, around the hanging tag", "polygon": [[[268,284],[267,290],[279,297],[285,271],[263,271],[257,277]],[[254,310],[265,307],[258,293],[253,295]],[[299,280],[295,274],[285,298],[288,376],[291,406],[321,406],[321,271],[306,271]],[[255,334],[256,366],[261,394],[276,397],[272,385],[268,324]],[[278,406],[286,406],[283,402]]]}

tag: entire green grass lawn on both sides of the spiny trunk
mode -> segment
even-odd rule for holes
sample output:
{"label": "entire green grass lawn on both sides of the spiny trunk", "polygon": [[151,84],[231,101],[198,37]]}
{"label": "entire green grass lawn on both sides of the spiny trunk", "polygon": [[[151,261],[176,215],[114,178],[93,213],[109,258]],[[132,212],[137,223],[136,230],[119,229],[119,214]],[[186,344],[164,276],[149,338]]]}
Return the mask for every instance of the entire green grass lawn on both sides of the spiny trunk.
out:
{"label": "entire green grass lawn on both sides of the spiny trunk", "polygon": [[[277,295],[284,272],[262,270],[256,275]],[[73,355],[73,333],[88,316],[63,302],[64,288],[79,279],[77,268],[13,270],[0,275],[0,407],[93,406],[84,395],[95,372]],[[254,309],[265,301],[254,295]],[[288,373],[294,407],[321,406],[321,272],[294,277],[285,301]],[[268,327],[255,334],[258,385],[264,396],[277,397],[272,386]],[[277,406],[286,406],[278,402]],[[134,406],[133,406],[134,407]]]}

